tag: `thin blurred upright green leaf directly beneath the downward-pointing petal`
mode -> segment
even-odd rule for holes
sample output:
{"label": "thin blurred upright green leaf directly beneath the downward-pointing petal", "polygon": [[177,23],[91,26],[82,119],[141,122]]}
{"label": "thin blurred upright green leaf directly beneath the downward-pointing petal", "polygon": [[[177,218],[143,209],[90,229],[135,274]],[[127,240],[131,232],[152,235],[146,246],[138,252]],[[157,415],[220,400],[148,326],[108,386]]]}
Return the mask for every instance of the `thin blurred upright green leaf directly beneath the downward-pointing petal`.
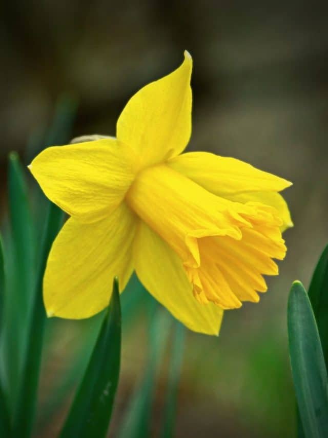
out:
{"label": "thin blurred upright green leaf directly beneath the downward-pointing petal", "polygon": [[166,397],[166,405],[164,411],[164,421],[161,436],[162,438],[171,438],[174,434],[178,384],[181,374],[181,366],[183,359],[183,350],[185,347],[185,327],[175,321],[175,330],[173,333],[173,342],[171,350],[171,362],[169,369],[168,390]]}

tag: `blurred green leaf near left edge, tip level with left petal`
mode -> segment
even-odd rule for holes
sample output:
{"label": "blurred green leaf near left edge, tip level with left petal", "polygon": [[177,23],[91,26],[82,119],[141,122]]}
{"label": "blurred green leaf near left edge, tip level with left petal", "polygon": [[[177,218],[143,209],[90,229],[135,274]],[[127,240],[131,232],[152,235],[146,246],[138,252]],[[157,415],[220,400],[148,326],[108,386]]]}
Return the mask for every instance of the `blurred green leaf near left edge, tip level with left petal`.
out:
{"label": "blurred green leaf near left edge, tip level with left petal", "polygon": [[[31,291],[35,280],[35,239],[25,172],[17,153],[9,155],[8,201],[10,217],[10,273],[8,274],[2,331],[4,382],[10,407],[16,402],[23,360]],[[24,311],[22,311],[24,309]],[[13,348],[15,346],[15,348]]]}

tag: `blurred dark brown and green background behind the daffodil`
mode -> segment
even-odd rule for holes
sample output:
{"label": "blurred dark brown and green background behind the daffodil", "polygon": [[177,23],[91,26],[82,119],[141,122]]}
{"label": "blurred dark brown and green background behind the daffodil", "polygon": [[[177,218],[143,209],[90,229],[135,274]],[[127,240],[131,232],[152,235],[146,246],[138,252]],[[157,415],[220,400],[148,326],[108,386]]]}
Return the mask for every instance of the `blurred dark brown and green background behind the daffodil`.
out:
{"label": "blurred dark brown and green background behind the daffodil", "polygon": [[[187,335],[176,430],[177,437],[293,436],[286,302],[294,279],[308,285],[328,240],[328,8],[306,1],[218,0],[11,0],[3,7],[2,217],[10,150],[28,164],[31,144],[52,126],[58,106],[75,112],[72,137],[114,135],[127,100],[176,68],[185,49],[194,59],[189,150],[239,158],[294,182],[285,198],[295,227],[285,233],[289,251],[280,276],[269,279],[260,303],[226,312],[218,338]],[[143,315],[124,332],[112,436],[145,368]],[[86,331],[84,322],[59,321],[57,329],[44,361],[41,405],[69,371],[72,350]],[[154,436],[166,376],[163,360]],[[40,421],[38,436],[56,435],[68,403],[47,424]]]}

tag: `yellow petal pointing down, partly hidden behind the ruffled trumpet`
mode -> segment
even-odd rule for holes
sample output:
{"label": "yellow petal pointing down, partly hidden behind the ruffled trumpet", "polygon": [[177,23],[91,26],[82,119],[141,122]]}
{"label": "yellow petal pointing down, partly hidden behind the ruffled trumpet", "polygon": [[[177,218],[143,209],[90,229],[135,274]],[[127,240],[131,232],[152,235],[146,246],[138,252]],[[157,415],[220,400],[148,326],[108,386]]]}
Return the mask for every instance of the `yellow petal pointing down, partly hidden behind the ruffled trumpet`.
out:
{"label": "yellow petal pointing down, partly hidden behind the ruffled trumpet", "polygon": [[134,245],[136,273],[146,289],[189,329],[217,335],[223,311],[194,299],[182,261],[169,245],[140,222]]}

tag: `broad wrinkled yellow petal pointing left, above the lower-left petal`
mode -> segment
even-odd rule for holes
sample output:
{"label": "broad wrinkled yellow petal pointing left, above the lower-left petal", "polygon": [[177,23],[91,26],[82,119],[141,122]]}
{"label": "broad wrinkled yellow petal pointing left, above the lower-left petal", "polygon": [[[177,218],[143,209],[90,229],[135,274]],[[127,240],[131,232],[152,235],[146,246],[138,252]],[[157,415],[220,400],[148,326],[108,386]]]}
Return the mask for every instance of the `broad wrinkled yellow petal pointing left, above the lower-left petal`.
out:
{"label": "broad wrinkled yellow petal pointing left, above the lower-left petal", "polygon": [[104,139],[42,151],[29,166],[46,196],[83,222],[106,217],[124,198],[133,178],[131,150]]}

